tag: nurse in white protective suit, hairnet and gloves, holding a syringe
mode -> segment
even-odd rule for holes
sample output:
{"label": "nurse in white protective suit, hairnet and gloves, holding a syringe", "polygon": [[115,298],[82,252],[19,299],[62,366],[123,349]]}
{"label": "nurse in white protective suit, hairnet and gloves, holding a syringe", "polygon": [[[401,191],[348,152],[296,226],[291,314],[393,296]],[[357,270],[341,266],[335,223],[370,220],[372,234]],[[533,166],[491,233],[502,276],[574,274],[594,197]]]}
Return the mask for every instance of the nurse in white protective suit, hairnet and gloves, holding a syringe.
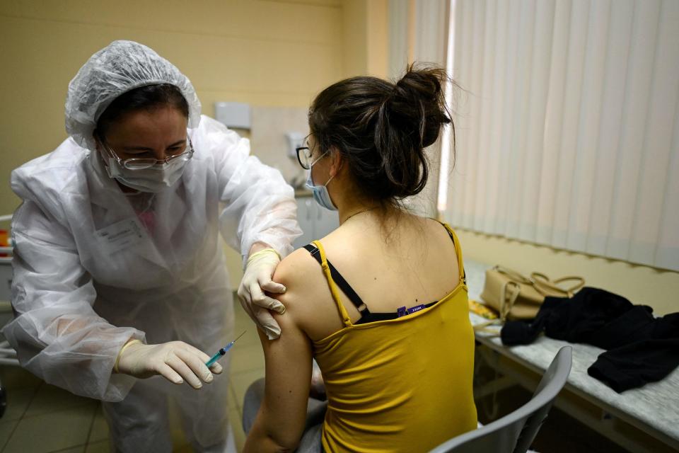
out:
{"label": "nurse in white protective suit, hairnet and gloves, holding a syringe", "polygon": [[262,289],[284,291],[271,277],[301,233],[292,188],[136,42],[112,42],[80,69],[66,131],[12,173],[23,204],[4,335],[45,382],[104,401],[117,451],[171,451],[168,395],[197,451],[233,449],[228,361],[204,365],[233,339],[218,235],[249,257],[241,303],[276,337],[261,307],[284,307]]}

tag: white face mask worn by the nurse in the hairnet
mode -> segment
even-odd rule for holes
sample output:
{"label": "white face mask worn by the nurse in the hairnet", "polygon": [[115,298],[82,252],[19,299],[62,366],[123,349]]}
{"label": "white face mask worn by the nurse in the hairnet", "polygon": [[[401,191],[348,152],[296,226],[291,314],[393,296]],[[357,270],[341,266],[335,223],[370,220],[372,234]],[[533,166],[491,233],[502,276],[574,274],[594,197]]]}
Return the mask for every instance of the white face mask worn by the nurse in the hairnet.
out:
{"label": "white face mask worn by the nurse in the hairnet", "polygon": [[184,173],[187,161],[177,159],[169,164],[156,164],[142,170],[124,168],[112,157],[108,158],[108,176],[127,187],[141,192],[159,193],[173,186]]}

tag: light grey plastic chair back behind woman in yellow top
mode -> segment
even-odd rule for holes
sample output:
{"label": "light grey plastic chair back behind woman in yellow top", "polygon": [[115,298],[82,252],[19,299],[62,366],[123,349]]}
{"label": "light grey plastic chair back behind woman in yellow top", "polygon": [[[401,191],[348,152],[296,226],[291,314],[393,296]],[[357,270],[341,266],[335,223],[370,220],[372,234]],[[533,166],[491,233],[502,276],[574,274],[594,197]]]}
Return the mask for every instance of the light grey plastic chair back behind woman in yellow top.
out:
{"label": "light grey plastic chair back behind woman in yellow top", "polygon": [[453,437],[429,453],[526,453],[571,372],[573,349],[557,352],[528,403],[477,430]]}

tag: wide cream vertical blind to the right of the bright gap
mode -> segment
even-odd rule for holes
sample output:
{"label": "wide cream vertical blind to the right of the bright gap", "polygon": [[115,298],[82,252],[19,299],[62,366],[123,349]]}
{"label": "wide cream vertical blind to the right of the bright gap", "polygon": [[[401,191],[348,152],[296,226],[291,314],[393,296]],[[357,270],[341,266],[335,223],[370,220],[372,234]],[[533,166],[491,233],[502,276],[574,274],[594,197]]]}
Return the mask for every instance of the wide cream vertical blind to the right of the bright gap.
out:
{"label": "wide cream vertical blind to the right of the bright gap", "polygon": [[679,1],[453,8],[448,221],[679,270]]}

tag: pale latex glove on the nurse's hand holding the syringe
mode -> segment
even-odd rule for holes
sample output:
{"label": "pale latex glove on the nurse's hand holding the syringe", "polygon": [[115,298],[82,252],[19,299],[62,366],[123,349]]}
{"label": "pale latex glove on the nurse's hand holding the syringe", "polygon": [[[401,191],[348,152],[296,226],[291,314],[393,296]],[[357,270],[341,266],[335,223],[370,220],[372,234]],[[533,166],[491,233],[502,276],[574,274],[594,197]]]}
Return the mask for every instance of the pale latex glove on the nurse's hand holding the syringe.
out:
{"label": "pale latex glove on the nurse's hand holding the syringe", "polygon": [[203,385],[201,381],[212,382],[212,373],[219,374],[222,370],[218,363],[208,369],[205,366],[208,360],[209,355],[183,341],[145,345],[132,340],[118,352],[114,370],[140,379],[160,374],[173,384],[186,381],[199,389]]}

